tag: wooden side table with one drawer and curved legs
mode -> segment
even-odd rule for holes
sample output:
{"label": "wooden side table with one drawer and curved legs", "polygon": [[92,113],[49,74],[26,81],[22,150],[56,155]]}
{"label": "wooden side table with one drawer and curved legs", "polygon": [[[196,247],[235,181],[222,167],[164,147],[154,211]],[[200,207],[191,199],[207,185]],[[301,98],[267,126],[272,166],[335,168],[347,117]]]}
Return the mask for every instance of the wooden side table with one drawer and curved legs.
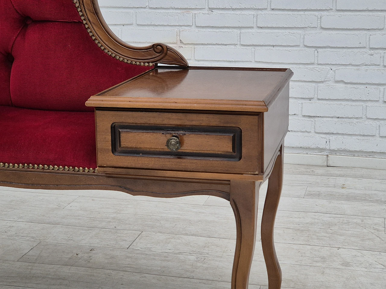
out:
{"label": "wooden side table with one drawer and curved legs", "polygon": [[262,249],[269,289],[281,287],[273,232],[292,75],[290,69],[156,66],[86,102],[96,108],[98,173],[162,187],[134,194],[230,201],[237,226],[232,289],[248,287],[259,187],[267,178]]}

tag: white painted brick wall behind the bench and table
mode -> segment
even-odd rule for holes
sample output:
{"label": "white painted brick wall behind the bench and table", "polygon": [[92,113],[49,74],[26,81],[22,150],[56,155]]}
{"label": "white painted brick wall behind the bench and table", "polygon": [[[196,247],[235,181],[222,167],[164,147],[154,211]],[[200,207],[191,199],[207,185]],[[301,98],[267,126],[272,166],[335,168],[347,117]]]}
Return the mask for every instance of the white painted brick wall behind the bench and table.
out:
{"label": "white painted brick wall behind the bench and table", "polygon": [[289,67],[286,151],[386,158],[386,0],[99,0],[137,46],[191,65]]}

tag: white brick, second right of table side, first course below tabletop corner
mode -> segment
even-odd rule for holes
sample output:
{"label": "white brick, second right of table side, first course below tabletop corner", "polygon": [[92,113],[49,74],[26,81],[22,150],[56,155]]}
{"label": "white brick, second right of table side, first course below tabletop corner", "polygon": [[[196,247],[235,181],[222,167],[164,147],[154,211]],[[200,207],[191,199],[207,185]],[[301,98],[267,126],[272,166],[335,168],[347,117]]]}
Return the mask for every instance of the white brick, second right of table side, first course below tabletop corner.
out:
{"label": "white brick, second right of table side, first course below tabletop corner", "polygon": [[320,85],[318,99],[378,101],[379,87]]}

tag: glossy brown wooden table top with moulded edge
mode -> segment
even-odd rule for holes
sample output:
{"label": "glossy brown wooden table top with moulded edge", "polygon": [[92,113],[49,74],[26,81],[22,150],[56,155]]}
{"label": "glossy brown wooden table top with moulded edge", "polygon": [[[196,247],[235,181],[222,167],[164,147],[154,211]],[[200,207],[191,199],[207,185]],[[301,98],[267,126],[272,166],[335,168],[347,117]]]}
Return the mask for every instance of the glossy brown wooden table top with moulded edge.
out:
{"label": "glossy brown wooden table top with moulded edge", "polygon": [[90,97],[87,106],[265,112],[290,69],[158,66]]}

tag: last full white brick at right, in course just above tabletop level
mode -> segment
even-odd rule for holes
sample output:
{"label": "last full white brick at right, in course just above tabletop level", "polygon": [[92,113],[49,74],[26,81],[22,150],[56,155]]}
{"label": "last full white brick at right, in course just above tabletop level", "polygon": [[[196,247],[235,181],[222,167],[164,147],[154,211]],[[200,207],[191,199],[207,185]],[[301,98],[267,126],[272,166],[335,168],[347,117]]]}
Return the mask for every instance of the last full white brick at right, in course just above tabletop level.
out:
{"label": "last full white brick at right, in course just above tabletop level", "polygon": [[318,50],[320,64],[379,65],[381,52],[358,50]]}

